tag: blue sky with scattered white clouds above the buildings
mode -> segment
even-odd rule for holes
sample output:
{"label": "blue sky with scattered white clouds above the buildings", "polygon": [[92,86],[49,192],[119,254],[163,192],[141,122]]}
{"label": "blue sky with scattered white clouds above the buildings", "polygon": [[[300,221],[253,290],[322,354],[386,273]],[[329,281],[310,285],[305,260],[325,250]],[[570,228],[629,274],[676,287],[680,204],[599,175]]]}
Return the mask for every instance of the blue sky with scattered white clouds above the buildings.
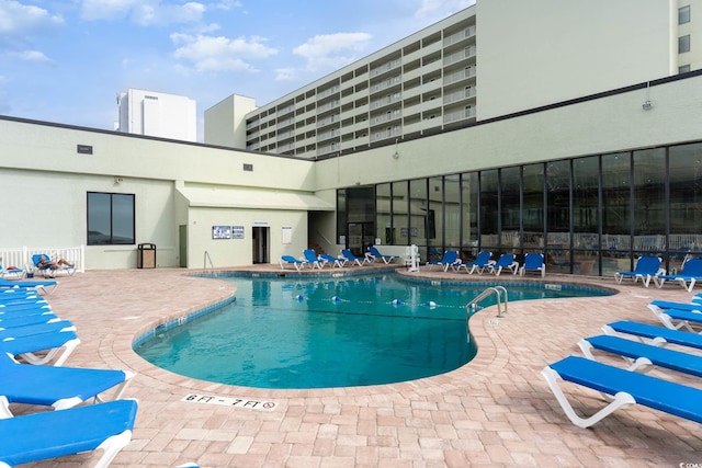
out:
{"label": "blue sky with scattered white clouds above the buildings", "polygon": [[264,105],[475,0],[0,0],[0,115],[114,129],[129,88]]}

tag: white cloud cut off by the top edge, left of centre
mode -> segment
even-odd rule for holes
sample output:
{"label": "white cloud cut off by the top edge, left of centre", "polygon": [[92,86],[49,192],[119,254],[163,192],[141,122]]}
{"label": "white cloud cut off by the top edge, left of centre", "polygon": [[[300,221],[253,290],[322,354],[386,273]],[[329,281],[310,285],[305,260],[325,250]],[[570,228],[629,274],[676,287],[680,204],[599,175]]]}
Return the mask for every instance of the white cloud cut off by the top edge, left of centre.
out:
{"label": "white cloud cut off by the top edge, left of centre", "polygon": [[80,15],[87,21],[128,18],[140,26],[196,23],[206,10],[203,3],[163,4],[160,0],[82,0]]}

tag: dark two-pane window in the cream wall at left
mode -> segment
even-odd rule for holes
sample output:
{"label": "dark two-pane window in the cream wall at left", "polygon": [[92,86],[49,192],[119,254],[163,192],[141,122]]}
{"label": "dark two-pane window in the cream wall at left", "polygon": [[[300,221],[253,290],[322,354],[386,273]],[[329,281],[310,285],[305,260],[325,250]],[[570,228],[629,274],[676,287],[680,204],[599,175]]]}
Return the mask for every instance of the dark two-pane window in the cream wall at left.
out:
{"label": "dark two-pane window in the cream wall at left", "polygon": [[88,192],[88,246],[128,246],[134,238],[134,195]]}

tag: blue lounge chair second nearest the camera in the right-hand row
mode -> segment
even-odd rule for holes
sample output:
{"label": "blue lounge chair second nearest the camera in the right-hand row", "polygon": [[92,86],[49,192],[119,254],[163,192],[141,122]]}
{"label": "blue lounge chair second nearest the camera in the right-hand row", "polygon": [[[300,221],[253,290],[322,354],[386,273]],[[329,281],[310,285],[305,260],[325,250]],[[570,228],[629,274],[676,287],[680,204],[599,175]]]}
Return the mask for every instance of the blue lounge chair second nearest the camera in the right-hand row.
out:
{"label": "blue lounge chair second nearest the camera in the right-hand row", "polygon": [[592,350],[623,356],[630,363],[627,370],[648,372],[654,366],[660,366],[702,377],[702,356],[695,356],[694,354],[607,334],[585,338],[578,342],[578,346],[580,346],[582,354],[587,358],[593,361],[597,359],[592,354]]}

